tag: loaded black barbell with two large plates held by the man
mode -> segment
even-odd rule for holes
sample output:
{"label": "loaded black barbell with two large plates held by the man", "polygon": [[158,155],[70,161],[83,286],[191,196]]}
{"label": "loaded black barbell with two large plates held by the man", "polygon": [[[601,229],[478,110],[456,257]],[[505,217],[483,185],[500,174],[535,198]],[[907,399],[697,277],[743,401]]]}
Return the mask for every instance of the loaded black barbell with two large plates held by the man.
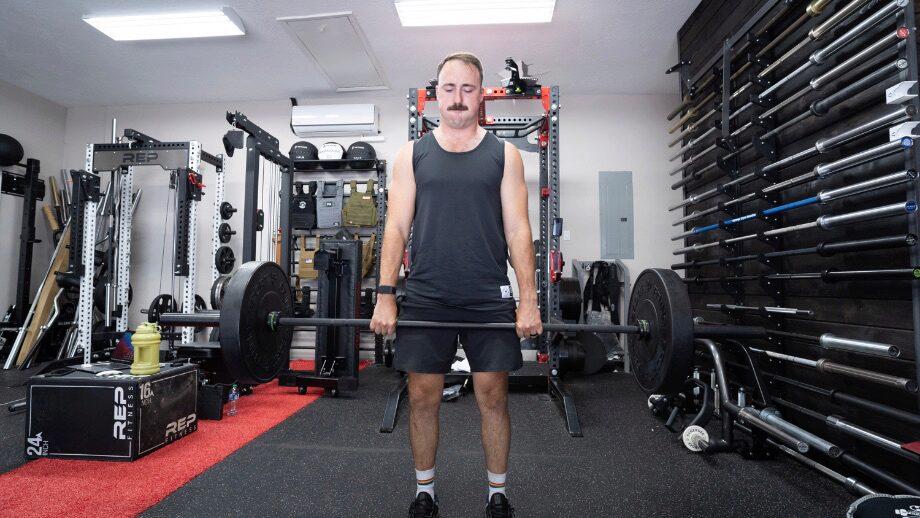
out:
{"label": "loaded black barbell with two large plates held by the man", "polygon": [[[219,328],[220,348],[227,370],[240,383],[274,379],[286,366],[294,326],[369,328],[357,318],[293,317],[294,300],[288,276],[273,262],[248,262],[230,278],[220,311],[161,313],[163,326]],[[671,270],[648,269],[633,285],[625,325],[548,322],[543,332],[623,333],[632,372],[643,390],[679,390],[693,368],[696,338],[765,338],[755,326],[694,325],[690,296],[680,276]],[[514,323],[429,322],[399,320],[397,328],[507,329]]]}

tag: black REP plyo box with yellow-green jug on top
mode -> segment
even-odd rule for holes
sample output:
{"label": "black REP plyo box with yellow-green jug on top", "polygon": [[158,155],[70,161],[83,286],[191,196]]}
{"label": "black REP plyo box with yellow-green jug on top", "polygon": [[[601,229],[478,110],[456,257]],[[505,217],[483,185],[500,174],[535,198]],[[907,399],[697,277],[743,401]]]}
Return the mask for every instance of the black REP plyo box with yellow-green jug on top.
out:
{"label": "black REP plyo box with yellow-green jug on top", "polygon": [[150,376],[130,365],[75,365],[26,384],[28,458],[130,461],[198,429],[198,368],[161,365]]}

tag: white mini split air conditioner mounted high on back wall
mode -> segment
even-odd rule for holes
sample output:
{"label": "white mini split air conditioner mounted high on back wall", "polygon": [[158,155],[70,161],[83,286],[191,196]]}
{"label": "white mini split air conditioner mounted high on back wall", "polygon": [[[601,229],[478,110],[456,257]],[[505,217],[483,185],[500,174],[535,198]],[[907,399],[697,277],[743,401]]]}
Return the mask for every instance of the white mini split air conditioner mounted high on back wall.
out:
{"label": "white mini split air conditioner mounted high on back wall", "polygon": [[380,112],[373,104],[291,107],[291,130],[298,137],[376,136]]}

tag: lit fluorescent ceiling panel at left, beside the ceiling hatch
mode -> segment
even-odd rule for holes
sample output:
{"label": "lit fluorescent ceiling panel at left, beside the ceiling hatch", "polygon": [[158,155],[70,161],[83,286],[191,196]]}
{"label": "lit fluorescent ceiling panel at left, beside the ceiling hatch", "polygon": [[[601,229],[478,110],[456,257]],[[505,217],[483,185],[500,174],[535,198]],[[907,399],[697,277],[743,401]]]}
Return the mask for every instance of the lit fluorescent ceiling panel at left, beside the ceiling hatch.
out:
{"label": "lit fluorescent ceiling panel at left, beside the ceiling hatch", "polygon": [[243,21],[228,7],[220,11],[84,16],[83,21],[115,41],[213,38],[246,34]]}

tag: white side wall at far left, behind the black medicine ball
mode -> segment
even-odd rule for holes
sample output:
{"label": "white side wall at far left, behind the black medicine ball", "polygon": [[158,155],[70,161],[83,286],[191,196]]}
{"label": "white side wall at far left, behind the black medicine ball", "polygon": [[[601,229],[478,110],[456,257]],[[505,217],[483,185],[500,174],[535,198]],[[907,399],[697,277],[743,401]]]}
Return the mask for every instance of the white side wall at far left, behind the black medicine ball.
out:
{"label": "white side wall at far left, behind the black medicine ball", "polygon": [[[47,99],[38,97],[21,88],[0,81],[0,133],[18,140],[25,150],[25,157],[41,161],[41,178],[59,176],[64,152],[64,123],[67,110]],[[9,166],[3,168],[14,173],[25,172],[24,168]],[[61,187],[60,182],[58,186]],[[36,243],[32,256],[32,294],[45,277],[54,247],[51,232],[41,212],[42,204],[51,204],[51,190],[45,184],[45,201],[36,205]],[[16,298],[17,268],[19,265],[19,234],[22,224],[22,198],[0,195],[0,311]],[[2,313],[0,313],[2,315]]]}

